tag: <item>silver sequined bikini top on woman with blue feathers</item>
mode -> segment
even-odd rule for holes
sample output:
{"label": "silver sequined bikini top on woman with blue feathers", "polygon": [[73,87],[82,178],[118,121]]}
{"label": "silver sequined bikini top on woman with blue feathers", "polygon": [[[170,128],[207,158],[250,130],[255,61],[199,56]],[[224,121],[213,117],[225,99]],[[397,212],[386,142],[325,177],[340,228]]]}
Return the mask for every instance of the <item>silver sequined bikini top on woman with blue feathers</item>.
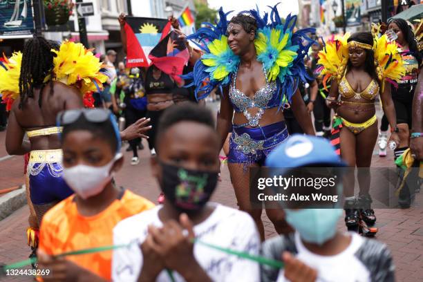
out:
{"label": "silver sequined bikini top on woman with blue feathers", "polygon": [[[279,95],[276,93],[276,82],[267,82],[267,76],[265,73],[266,85],[256,91],[253,98],[250,98],[236,88],[237,73],[238,69],[236,70],[234,78],[232,79],[232,84],[229,87],[229,99],[234,105],[234,110],[245,115],[245,118],[248,120],[248,125],[253,127],[258,126],[259,120],[261,119],[265,109],[279,106],[280,100],[278,99]],[[256,115],[251,115],[247,109],[254,107],[259,108],[259,111]]]}

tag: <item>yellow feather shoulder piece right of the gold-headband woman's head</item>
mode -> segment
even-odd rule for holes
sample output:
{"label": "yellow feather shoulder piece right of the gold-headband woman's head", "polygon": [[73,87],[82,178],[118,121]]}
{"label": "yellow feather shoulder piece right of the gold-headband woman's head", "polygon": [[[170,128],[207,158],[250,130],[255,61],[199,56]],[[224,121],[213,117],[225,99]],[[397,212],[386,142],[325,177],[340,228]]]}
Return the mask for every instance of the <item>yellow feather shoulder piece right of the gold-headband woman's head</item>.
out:
{"label": "yellow feather shoulder piece right of the gold-headband woman's head", "polygon": [[402,63],[400,49],[395,41],[388,41],[386,35],[375,37],[373,51],[375,53],[375,63],[377,63],[377,78],[382,82],[383,91],[385,80],[395,85],[405,75],[405,68]]}

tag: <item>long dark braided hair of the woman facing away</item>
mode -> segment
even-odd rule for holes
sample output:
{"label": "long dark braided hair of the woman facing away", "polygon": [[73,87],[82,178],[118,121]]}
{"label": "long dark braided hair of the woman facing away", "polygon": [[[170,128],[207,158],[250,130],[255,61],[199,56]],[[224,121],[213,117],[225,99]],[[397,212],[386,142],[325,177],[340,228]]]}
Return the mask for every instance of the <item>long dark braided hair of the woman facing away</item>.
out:
{"label": "long dark braided hair of the woman facing away", "polygon": [[[55,53],[51,49],[58,49],[58,44],[48,41],[44,37],[34,37],[26,41],[23,46],[21,75],[19,76],[19,94],[21,101],[19,109],[28,100],[34,97],[34,88],[41,88],[44,79],[50,75],[50,94],[53,94],[53,57]],[[39,107],[41,108],[41,93],[39,95]]]}

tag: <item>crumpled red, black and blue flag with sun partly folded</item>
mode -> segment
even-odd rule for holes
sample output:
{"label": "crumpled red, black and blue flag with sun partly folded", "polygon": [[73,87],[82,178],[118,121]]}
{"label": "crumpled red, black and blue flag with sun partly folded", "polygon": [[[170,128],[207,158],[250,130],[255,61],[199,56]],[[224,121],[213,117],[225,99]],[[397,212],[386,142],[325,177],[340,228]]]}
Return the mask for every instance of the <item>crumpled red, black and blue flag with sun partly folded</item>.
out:
{"label": "crumpled red, black and blue flag with sun partly folded", "polygon": [[172,30],[156,47],[151,50],[149,59],[162,72],[167,73],[176,82],[180,82],[184,66],[189,60],[187,41]]}

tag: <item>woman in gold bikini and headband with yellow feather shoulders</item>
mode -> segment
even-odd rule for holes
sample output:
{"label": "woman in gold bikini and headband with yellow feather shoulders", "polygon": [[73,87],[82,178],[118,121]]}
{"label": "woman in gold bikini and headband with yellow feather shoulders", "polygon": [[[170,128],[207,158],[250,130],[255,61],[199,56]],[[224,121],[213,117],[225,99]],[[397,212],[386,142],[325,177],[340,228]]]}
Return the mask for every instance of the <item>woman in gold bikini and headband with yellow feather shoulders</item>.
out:
{"label": "woman in gold bikini and headband with yellow feather shoulders", "polygon": [[[376,221],[375,212],[370,209],[370,171],[366,169],[370,167],[378,135],[375,98],[380,95],[388,122],[396,129],[391,87],[386,82],[395,84],[400,80],[404,67],[395,42],[389,42],[386,35],[373,37],[370,32],[328,41],[319,53],[319,64],[325,87],[332,80],[327,98],[328,106],[336,113],[332,144],[349,167],[359,168],[357,200],[353,170],[348,171],[345,182],[345,222],[349,229],[357,229],[360,217],[370,225]],[[400,142],[397,132],[392,132],[389,141]],[[361,209],[355,208],[357,203]]]}

